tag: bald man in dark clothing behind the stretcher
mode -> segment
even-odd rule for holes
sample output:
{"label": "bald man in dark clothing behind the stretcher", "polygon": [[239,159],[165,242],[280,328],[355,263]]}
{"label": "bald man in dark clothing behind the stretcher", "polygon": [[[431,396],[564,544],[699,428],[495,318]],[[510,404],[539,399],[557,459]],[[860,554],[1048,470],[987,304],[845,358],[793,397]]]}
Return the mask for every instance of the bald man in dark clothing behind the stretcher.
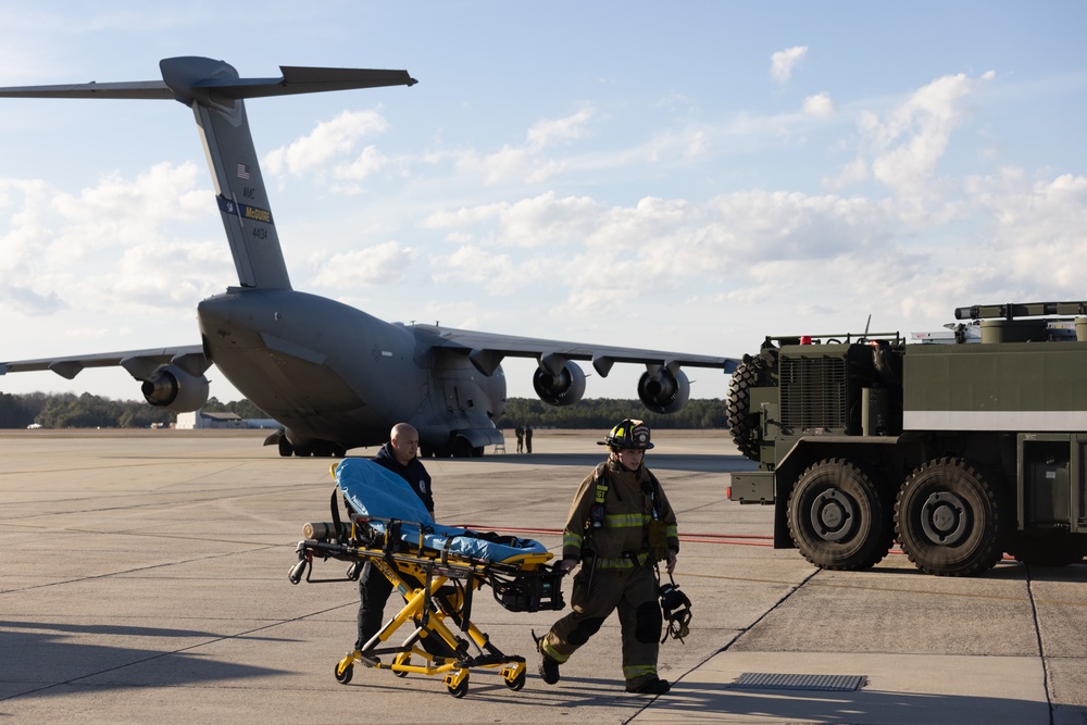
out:
{"label": "bald man in dark clothing behind the stretcher", "polygon": [[[418,433],[407,423],[397,423],[389,434],[389,442],[377,451],[374,462],[408,482],[423,501],[430,518],[434,518],[430,474],[416,458],[417,452]],[[361,650],[380,630],[385,620],[385,604],[391,593],[392,583],[384,574],[375,571],[367,559],[359,578],[359,639],[354,643],[354,649]]]}

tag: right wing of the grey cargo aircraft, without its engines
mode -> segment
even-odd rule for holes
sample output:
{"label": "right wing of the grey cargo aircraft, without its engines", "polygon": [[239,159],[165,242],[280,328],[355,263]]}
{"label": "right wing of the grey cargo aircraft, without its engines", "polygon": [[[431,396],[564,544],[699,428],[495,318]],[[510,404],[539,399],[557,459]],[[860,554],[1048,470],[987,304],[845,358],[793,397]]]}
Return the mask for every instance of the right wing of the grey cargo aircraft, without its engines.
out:
{"label": "right wing of the grey cargo aircraft, without its engines", "polygon": [[699,355],[640,348],[620,348],[607,345],[583,345],[563,340],[545,340],[516,335],[477,333],[467,329],[438,327],[436,325],[414,325],[433,334],[437,339],[434,347],[463,350],[472,364],[484,375],[490,375],[503,358],[536,358],[540,365],[558,375],[570,360],[590,360],[601,377],[607,377],[614,363],[642,363],[661,365],[673,372],[680,366],[717,367],[730,374],[739,364],[735,358]]}

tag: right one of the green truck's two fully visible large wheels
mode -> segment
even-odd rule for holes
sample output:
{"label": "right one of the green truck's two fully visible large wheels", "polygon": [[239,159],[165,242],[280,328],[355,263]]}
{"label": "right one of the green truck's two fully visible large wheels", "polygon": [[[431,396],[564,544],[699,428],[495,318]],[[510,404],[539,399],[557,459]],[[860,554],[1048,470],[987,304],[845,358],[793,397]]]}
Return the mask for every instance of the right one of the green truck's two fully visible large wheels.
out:
{"label": "right one of the green truck's two fully visible large wheels", "polygon": [[895,529],[917,568],[937,576],[973,576],[1003,553],[1005,523],[996,488],[958,458],[916,468],[898,492]]}

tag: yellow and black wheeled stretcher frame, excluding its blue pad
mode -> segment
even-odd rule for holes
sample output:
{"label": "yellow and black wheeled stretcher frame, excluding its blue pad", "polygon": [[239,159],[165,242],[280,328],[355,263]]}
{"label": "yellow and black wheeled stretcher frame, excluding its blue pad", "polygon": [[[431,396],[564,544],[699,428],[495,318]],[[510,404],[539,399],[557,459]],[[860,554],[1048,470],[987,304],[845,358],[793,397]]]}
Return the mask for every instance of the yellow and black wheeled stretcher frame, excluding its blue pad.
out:
{"label": "yellow and black wheeled stretcher frame, excluding its blue pad", "polygon": [[[562,609],[562,572],[546,566],[553,554],[525,553],[501,562],[462,558],[448,550],[405,545],[399,537],[399,524],[384,521],[385,533],[352,516],[350,528],[337,524],[307,524],[307,535],[299,541],[299,563],[289,574],[298,584],[305,574],[310,583],[357,580],[365,562],[377,568],[403,596],[397,612],[362,650],[345,654],[335,667],[336,680],[351,682],[354,665],[389,670],[398,677],[409,673],[443,675],[449,693],[467,693],[468,674],[474,667],[501,668],[502,680],[511,690],[525,686],[525,658],[501,652],[490,638],[471,621],[473,592],[484,585],[493,589],[495,599],[511,611]],[[417,525],[416,525],[417,526]],[[335,539],[335,540],[333,540]],[[350,562],[346,577],[311,579],[314,558]],[[450,626],[452,625],[452,626]],[[412,632],[399,646],[386,646],[401,627]],[[390,657],[389,660],[382,658]],[[413,659],[424,664],[412,664]]]}

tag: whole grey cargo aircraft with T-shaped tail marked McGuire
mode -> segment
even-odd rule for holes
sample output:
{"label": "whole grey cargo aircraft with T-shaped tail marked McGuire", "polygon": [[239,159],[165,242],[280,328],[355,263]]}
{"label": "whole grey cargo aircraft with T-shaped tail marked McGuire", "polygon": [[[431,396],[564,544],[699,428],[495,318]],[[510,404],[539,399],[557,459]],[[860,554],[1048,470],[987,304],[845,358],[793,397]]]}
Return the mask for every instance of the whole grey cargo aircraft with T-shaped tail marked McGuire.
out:
{"label": "whole grey cargo aircraft with T-shaped tail marked McGuire", "polygon": [[197,305],[201,342],[0,362],[0,375],[51,370],[68,379],[85,367],[120,365],[141,383],[152,405],[193,411],[208,400],[214,364],[283,428],[265,445],[280,455],[343,455],[379,445],[395,423],[412,424],[423,455],[482,455],[503,442],[493,421],[505,407],[507,357],[535,358],[533,386],[552,405],[585,392],[591,361],[640,363],[638,397],[659,413],[678,411],[689,396],[682,367],[730,373],[738,361],[464,329],[387,323],[361,310],[291,288],[275,218],[253,148],[243,99],[355,88],[412,86],[407,71],[288,67],[279,78],[241,78],[222,61],[170,58],[162,80],[24,86],[12,98],[166,99],[189,107],[214,182],[238,285]]}

